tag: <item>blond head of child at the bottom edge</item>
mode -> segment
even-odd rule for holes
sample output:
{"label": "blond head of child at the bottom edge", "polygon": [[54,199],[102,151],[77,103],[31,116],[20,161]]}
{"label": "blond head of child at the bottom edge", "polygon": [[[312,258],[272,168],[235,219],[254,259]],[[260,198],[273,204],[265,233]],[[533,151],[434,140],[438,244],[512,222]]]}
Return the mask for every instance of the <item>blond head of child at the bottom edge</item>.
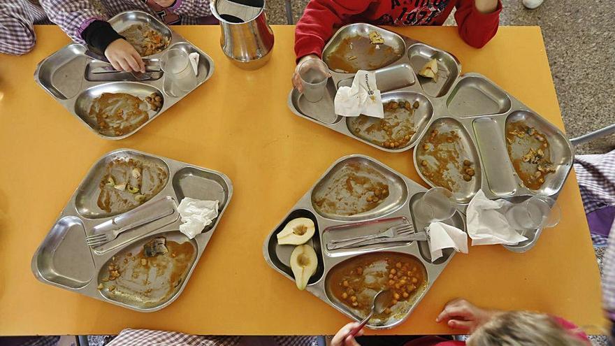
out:
{"label": "blond head of child at the bottom edge", "polygon": [[468,346],[587,346],[549,315],[502,312],[468,338]]}

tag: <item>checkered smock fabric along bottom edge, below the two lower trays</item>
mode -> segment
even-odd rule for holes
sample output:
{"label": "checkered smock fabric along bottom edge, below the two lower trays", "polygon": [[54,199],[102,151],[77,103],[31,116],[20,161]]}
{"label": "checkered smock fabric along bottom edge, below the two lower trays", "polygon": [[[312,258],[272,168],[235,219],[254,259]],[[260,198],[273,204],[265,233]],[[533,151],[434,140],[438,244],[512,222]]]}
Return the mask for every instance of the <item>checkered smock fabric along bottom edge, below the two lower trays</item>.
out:
{"label": "checkered smock fabric along bottom edge, below the two lower trays", "polygon": [[[316,346],[312,336],[275,336],[277,346]],[[124,329],[108,346],[238,346],[241,336],[191,336],[175,331]],[[275,345],[271,345],[275,346]]]}

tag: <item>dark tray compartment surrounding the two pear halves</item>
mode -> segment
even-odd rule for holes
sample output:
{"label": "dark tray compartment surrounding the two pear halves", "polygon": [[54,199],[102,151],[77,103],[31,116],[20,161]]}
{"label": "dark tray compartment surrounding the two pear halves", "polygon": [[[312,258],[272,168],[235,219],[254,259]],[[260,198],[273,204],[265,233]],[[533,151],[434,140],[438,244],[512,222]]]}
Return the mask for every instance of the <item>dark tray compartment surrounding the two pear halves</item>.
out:
{"label": "dark tray compartment surrounding the two pear halves", "polygon": [[320,281],[322,275],[324,274],[324,257],[322,256],[322,250],[320,247],[320,231],[318,225],[318,219],[316,215],[314,215],[310,210],[305,209],[296,209],[293,210],[284,218],[279,225],[277,225],[275,231],[270,234],[267,241],[267,252],[269,259],[273,266],[277,268],[279,271],[284,273],[286,277],[290,280],[295,280],[293,275],[293,271],[290,266],[291,254],[293,250],[295,250],[295,245],[279,245],[277,243],[277,233],[280,233],[284,226],[288,224],[292,219],[296,219],[298,217],[307,217],[314,222],[314,236],[310,240],[307,241],[307,245],[310,245],[314,248],[316,252],[316,257],[318,258],[318,266],[316,268],[316,273],[310,277],[310,281],[307,282],[308,287],[310,284],[314,284],[315,282]]}

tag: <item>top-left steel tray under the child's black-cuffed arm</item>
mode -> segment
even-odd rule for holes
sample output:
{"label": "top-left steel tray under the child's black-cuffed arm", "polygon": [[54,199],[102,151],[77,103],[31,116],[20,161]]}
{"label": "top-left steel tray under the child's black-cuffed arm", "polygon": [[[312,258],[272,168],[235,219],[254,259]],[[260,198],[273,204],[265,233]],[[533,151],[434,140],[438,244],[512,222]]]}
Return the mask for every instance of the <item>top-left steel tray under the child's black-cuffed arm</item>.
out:
{"label": "top-left steel tray under the child's black-cuffed arm", "polygon": [[[208,80],[214,72],[214,62],[205,52],[148,13],[138,10],[120,13],[111,18],[109,23],[116,31],[122,31],[133,24],[147,24],[169,39],[166,49],[178,48],[187,53],[197,52],[200,55],[197,87]],[[117,140],[131,136],[187,95],[175,90],[168,80],[165,82],[162,71],[152,72],[151,80],[137,80],[128,72],[92,73],[93,69],[108,64],[86,55],[86,52],[87,48],[83,45],[77,43],[66,45],[38,63],[34,80],[68,112],[102,138]],[[162,52],[159,52],[148,58],[157,59],[161,54]],[[89,116],[92,100],[104,92],[122,92],[140,99],[157,94],[162,98],[162,106],[158,110],[150,110],[149,120],[133,131],[120,136],[108,136],[99,132],[96,120]]]}

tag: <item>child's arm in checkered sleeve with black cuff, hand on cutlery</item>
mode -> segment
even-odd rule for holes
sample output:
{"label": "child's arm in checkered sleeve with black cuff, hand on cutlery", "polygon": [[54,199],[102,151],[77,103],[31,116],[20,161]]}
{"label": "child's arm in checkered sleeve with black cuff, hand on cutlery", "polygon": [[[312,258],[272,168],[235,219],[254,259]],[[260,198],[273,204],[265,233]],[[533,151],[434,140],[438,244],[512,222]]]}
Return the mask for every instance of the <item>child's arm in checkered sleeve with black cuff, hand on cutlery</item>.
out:
{"label": "child's arm in checkered sleeve with black cuff, hand on cutlery", "polygon": [[145,72],[134,47],[117,34],[89,0],[40,0],[49,19],[77,43],[87,43],[104,52],[116,70]]}

